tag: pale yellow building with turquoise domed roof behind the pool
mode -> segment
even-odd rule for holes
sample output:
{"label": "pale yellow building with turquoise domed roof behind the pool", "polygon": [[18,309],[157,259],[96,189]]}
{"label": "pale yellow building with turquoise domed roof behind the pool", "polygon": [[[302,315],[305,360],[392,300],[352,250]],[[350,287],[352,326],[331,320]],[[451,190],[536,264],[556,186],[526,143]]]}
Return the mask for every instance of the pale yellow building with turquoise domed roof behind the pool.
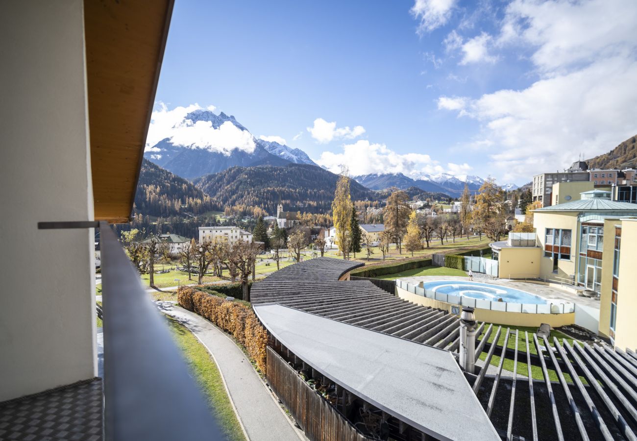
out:
{"label": "pale yellow building with turquoise domed roof behind the pool", "polygon": [[[558,185],[557,200],[565,197],[559,193],[566,188]],[[612,201],[610,194],[594,189],[534,210],[534,238],[533,233],[510,233],[508,242],[491,247],[498,254],[501,278],[540,277],[599,296],[599,334],[617,347],[637,348],[632,317],[637,308],[637,204]]]}

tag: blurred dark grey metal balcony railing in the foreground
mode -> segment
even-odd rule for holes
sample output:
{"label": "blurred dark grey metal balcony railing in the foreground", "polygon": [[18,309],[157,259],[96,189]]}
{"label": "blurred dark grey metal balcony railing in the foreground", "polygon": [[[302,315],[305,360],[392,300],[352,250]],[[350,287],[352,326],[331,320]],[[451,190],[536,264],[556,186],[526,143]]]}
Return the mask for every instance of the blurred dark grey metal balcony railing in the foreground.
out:
{"label": "blurred dark grey metal balcony railing in the foreground", "polygon": [[99,228],[106,440],[223,439],[115,233]]}

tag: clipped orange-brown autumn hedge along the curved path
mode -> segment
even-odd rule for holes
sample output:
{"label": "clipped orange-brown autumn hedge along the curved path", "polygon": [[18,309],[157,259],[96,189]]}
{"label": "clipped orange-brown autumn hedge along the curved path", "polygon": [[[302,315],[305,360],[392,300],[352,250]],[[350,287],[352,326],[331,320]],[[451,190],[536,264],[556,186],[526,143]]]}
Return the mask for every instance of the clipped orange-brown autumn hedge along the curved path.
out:
{"label": "clipped orange-brown autumn hedge along the curved path", "polygon": [[232,334],[245,347],[257,368],[266,372],[268,333],[252,309],[236,301],[227,301],[185,286],[177,290],[177,301],[183,308]]}

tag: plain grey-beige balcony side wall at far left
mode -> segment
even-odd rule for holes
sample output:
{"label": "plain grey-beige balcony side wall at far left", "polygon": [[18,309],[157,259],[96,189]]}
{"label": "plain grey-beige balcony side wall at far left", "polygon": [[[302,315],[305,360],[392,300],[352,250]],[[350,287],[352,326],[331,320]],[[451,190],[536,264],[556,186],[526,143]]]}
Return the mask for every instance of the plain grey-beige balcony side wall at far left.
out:
{"label": "plain grey-beige balcony side wall at far left", "polygon": [[82,0],[0,14],[0,401],[96,375],[94,231]]}

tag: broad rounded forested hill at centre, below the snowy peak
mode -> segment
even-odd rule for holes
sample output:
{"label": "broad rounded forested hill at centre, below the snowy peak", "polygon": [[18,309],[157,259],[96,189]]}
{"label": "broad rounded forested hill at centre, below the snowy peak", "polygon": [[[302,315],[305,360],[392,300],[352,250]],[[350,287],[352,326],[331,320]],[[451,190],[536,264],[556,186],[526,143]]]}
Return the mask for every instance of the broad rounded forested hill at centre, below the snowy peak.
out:
{"label": "broad rounded forested hill at centre, below the snowy peak", "polygon": [[[276,206],[290,212],[327,213],[331,209],[338,175],[308,164],[281,167],[233,167],[194,183],[219,205],[258,207],[276,214]],[[350,181],[353,200],[377,200],[382,196]]]}

